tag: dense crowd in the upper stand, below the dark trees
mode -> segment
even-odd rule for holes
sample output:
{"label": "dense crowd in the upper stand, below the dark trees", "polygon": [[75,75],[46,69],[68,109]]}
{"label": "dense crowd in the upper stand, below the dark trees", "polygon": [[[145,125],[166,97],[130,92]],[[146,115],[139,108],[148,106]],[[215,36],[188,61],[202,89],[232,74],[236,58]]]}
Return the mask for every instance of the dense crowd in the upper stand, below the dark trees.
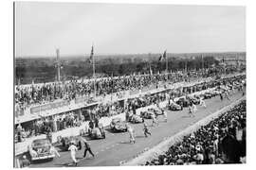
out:
{"label": "dense crowd in the upper stand, below the dark trees", "polygon": [[[189,72],[133,75],[98,78],[95,81],[97,95],[117,93],[127,90],[142,89],[157,86],[159,82],[179,82],[192,77],[206,76],[205,73]],[[74,98],[94,93],[94,80],[70,80],[44,84],[31,84],[15,87],[15,110],[23,110],[33,104],[45,104],[58,99],[72,100]]]}

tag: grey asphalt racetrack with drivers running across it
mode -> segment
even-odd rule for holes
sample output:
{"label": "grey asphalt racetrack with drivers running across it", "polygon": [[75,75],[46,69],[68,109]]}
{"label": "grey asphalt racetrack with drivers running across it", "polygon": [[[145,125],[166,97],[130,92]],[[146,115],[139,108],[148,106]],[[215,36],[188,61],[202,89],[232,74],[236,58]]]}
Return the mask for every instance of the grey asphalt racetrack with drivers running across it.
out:
{"label": "grey asphalt racetrack with drivers running across it", "polygon": [[[145,138],[143,134],[143,124],[131,124],[135,128],[136,144],[129,143],[129,134],[112,133],[106,130],[106,139],[89,141],[92,151],[96,157],[93,158],[88,152],[85,159],[82,150],[78,151],[76,158],[79,161],[77,166],[116,166],[120,161],[128,161],[134,158],[137,153],[143,151],[146,147],[153,147],[159,144],[165,137],[173,136],[182,129],[191,126],[193,123],[208,116],[217,110],[228,106],[230,103],[242,97],[242,93],[233,93],[229,97],[230,100],[224,98],[220,100],[219,96],[206,100],[207,108],[197,105],[195,117],[188,115],[188,108],[181,111],[168,111],[168,122],[164,122],[162,116],[158,116],[159,125],[157,127],[149,127],[152,136]],[[146,120],[151,126],[152,120]],[[32,163],[29,167],[66,167],[73,166],[70,153],[68,151],[60,151],[61,157],[55,158],[53,161],[44,161]]]}

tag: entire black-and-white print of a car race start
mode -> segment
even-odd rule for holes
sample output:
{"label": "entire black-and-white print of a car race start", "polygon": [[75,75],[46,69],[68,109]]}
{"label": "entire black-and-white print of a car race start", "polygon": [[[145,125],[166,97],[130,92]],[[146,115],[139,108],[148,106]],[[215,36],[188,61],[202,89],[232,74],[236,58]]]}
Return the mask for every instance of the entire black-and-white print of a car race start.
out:
{"label": "entire black-and-white print of a car race start", "polygon": [[246,16],[14,1],[13,167],[246,164]]}

